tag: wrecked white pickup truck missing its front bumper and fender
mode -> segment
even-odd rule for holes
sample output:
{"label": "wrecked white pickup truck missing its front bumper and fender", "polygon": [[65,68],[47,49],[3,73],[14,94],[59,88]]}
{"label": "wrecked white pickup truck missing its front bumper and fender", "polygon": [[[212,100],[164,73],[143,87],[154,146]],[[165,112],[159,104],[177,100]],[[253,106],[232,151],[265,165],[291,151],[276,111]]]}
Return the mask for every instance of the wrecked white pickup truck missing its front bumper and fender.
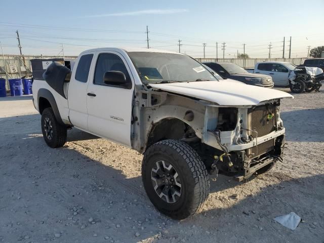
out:
{"label": "wrecked white pickup truck missing its front bumper and fender", "polygon": [[154,49],[81,53],[73,71],[52,63],[33,81],[45,142],[77,128],[144,154],[142,180],[152,204],[183,219],[209,194],[209,176],[242,181],[281,159],[285,92],[218,80],[193,58]]}

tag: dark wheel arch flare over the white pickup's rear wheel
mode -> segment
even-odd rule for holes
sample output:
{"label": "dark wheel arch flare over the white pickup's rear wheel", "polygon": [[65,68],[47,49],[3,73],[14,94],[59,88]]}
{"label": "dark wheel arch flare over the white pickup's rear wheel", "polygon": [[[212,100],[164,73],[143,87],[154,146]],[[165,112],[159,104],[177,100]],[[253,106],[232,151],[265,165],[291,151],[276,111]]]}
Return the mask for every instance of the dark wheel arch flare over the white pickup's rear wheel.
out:
{"label": "dark wheel arch flare over the white pickup's rear wheel", "polygon": [[42,114],[44,109],[51,107],[53,109],[55,118],[58,121],[58,123],[65,126],[61,118],[59,109],[57,107],[57,103],[51,91],[47,89],[39,89],[37,93],[37,97],[38,97],[37,103],[38,103],[39,113]]}

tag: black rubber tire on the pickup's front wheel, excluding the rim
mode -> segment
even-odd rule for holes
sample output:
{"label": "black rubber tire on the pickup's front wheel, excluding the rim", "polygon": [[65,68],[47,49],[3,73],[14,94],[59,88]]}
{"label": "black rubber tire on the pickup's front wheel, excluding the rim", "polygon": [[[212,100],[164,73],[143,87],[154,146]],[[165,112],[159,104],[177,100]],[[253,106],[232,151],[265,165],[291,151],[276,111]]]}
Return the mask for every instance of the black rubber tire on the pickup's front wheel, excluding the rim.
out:
{"label": "black rubber tire on the pickup's front wheel, excluding the rim", "polygon": [[[153,186],[152,168],[161,160],[174,167],[181,181],[181,195],[175,203],[161,199]],[[173,219],[184,219],[199,212],[210,188],[203,160],[188,144],[178,140],[159,141],[146,150],[142,161],[142,180],[152,204]]]}

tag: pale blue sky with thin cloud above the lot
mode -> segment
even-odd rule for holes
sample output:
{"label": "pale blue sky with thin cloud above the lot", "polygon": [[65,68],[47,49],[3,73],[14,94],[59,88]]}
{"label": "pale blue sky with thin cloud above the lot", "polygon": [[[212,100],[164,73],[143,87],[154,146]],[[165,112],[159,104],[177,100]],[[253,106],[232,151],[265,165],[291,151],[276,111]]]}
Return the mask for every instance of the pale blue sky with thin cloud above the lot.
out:
{"label": "pale blue sky with thin cloud above the lot", "polygon": [[[56,3],[56,4],[54,4]],[[20,10],[18,13],[18,9]],[[324,45],[324,1],[4,1],[0,41],[6,54],[65,55],[95,47],[146,47],[146,25],[152,48],[193,57],[282,56],[292,36],[292,57],[307,56],[307,46]]]}

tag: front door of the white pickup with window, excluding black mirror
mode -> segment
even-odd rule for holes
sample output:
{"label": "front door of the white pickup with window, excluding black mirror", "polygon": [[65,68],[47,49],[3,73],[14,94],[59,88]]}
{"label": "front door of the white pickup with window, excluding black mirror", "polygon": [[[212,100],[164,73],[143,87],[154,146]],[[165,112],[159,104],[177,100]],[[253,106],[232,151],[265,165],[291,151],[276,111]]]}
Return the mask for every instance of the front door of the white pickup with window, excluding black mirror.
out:
{"label": "front door of the white pickup with window, excluding black mirror", "polygon": [[[115,51],[96,53],[94,75],[88,85],[88,127],[100,137],[131,147],[131,117],[134,80],[125,58]],[[106,71],[121,71],[131,88],[107,85]]]}

